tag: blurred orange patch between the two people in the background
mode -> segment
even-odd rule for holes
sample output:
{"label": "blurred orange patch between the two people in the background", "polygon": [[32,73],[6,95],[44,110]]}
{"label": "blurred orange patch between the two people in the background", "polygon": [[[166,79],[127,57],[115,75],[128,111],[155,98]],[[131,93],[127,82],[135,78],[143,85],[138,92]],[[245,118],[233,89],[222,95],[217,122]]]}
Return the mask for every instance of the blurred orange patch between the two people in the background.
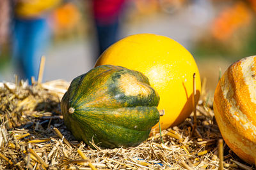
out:
{"label": "blurred orange patch between the two people in the background", "polygon": [[77,0],[63,3],[50,18],[54,43],[84,38],[92,30],[90,3]]}

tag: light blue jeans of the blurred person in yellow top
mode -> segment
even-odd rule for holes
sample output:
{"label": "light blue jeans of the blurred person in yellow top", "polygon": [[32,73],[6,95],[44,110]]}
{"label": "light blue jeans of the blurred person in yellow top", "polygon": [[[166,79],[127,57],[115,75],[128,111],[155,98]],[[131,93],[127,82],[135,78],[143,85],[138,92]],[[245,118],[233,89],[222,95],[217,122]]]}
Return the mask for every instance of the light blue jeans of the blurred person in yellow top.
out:
{"label": "light blue jeans of the blurred person in yellow top", "polygon": [[49,44],[50,29],[46,18],[16,18],[13,29],[13,64],[19,78],[37,80],[40,58]]}

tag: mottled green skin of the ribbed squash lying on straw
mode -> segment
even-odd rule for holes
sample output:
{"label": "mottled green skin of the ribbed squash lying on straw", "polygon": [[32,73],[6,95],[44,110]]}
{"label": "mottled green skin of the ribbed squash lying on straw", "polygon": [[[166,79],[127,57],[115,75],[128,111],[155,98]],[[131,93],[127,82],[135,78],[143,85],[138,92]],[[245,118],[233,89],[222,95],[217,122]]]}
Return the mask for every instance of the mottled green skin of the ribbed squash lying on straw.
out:
{"label": "mottled green skin of the ribbed squash lying on straw", "polygon": [[[118,87],[122,74],[136,76],[150,88],[148,96],[125,96]],[[61,100],[67,128],[77,139],[104,148],[138,146],[159,121],[159,96],[148,78],[120,66],[95,67],[75,78]],[[68,109],[74,108],[74,113]],[[92,145],[90,145],[92,146]]]}

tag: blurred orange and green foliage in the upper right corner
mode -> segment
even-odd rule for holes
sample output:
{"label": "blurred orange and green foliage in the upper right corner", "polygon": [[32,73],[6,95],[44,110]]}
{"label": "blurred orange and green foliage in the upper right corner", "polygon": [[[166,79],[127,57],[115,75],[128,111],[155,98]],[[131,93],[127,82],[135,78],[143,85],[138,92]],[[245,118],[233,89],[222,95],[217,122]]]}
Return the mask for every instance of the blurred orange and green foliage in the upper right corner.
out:
{"label": "blurred orange and green foliage in the upper right corner", "polygon": [[223,57],[237,60],[256,55],[256,3],[228,4],[212,20],[208,29],[195,40],[193,53],[198,57]]}

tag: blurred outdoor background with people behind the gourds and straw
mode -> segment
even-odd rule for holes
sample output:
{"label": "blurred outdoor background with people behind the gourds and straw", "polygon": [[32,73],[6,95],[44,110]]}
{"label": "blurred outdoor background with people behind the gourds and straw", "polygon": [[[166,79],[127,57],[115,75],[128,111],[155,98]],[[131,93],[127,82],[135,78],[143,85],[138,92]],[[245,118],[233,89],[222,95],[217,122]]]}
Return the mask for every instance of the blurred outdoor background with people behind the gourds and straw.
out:
{"label": "blurred outdoor background with people behind the gourds and straw", "polygon": [[[0,81],[15,81],[18,67],[34,58],[31,66],[38,65],[34,55],[46,57],[44,81],[71,81],[92,69],[108,43],[154,33],[192,53],[211,94],[230,64],[256,55],[255,0],[48,1],[0,1]],[[112,38],[102,40],[102,32]]]}

